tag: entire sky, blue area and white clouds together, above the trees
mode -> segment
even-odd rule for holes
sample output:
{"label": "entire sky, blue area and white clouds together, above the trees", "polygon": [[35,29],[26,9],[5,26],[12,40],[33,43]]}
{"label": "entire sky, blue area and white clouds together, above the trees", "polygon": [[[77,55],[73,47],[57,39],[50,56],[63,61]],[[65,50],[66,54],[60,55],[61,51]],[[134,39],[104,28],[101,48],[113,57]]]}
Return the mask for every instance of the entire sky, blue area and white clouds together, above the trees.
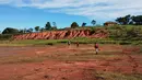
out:
{"label": "entire sky, blue area and white clouds together, above the trees", "polygon": [[44,27],[46,22],[56,22],[58,27],[72,22],[92,20],[97,24],[114,21],[127,14],[142,14],[142,0],[0,0],[0,31],[5,27]]}

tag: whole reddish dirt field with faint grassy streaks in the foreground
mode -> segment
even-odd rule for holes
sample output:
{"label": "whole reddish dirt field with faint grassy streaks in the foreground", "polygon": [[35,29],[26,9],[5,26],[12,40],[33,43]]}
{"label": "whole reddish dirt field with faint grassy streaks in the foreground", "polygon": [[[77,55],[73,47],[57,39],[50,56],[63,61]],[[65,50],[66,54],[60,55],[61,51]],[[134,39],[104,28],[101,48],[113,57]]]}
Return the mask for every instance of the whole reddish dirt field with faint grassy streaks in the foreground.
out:
{"label": "whole reddish dirt field with faint grassy streaks in the foreground", "polygon": [[140,46],[92,44],[0,47],[0,80],[106,80],[97,71],[142,73]]}

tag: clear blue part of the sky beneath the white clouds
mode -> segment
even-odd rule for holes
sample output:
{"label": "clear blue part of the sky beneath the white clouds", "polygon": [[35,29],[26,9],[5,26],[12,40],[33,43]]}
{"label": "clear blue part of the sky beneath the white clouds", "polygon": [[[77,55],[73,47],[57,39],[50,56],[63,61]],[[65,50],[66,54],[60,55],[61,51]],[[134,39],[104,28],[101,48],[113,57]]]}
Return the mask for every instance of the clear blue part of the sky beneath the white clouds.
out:
{"label": "clear blue part of the sky beneath the white clouds", "polygon": [[14,8],[9,5],[0,5],[0,27],[29,28],[39,25],[44,27],[46,22],[56,22],[58,27],[67,27],[75,21],[79,24],[90,20],[85,16],[71,15],[64,13],[52,13],[46,10],[34,8]]}

